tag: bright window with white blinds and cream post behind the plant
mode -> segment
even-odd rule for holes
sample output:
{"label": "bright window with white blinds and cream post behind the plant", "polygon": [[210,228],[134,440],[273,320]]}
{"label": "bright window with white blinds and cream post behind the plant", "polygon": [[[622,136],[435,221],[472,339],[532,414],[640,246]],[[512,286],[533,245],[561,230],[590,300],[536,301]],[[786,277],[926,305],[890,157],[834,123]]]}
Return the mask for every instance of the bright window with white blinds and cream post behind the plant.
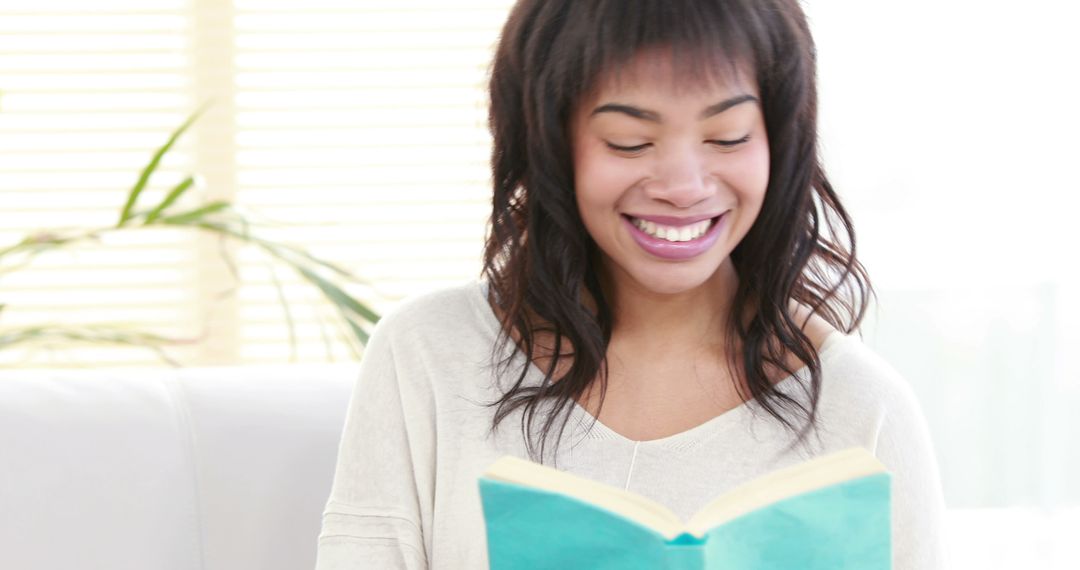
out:
{"label": "bright window with white blinds and cream post behind the plant", "polygon": [[[484,83],[509,5],[4,0],[0,248],[114,223],[152,152],[211,101],[147,203],[198,174],[190,207],[232,201],[260,236],[368,281],[348,290],[377,312],[472,279],[490,192]],[[165,349],[187,365],[351,357],[316,289],[256,248],[194,231],[108,232],[43,254],[0,274],[0,330],[146,329],[190,339]],[[0,364],[160,362],[55,344],[0,351]]]}

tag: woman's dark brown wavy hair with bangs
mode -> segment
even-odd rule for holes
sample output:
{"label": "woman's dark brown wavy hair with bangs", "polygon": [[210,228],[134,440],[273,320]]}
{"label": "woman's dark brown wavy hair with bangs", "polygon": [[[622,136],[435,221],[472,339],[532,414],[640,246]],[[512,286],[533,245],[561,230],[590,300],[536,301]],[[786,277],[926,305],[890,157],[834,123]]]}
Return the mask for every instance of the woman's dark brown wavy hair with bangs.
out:
{"label": "woman's dark brown wavy hair with bangs", "polygon": [[[498,405],[491,431],[524,407],[522,431],[534,458],[534,416],[542,403],[555,406],[542,418],[541,458],[559,412],[566,412],[561,439],[571,399],[598,379],[603,406],[607,385],[612,314],[600,287],[598,247],[576,205],[569,121],[604,76],[651,49],[672,55],[680,82],[701,82],[738,64],[755,74],[768,133],[769,185],[757,219],[731,253],[739,285],[735,310],[726,315],[732,358],[726,364],[739,367],[751,397],[789,431],[795,424],[781,408],[806,419],[792,447],[816,424],[822,380],[818,352],[788,303],[807,306],[850,334],[863,320],[868,295],[876,297],[855,259],[851,219],[819,159],[815,52],[798,0],[519,0],[490,68],[494,198],[483,275],[501,323],[492,358],[508,342],[516,349],[497,369],[505,374],[515,355],[526,356],[516,383],[487,404]],[[838,230],[846,232],[850,252]],[[747,309],[752,317],[737,316]],[[543,382],[523,385],[541,356],[538,332],[554,338],[554,352],[544,355],[551,359]],[[739,363],[734,335],[742,341]],[[787,369],[785,351],[808,364],[809,409],[766,376],[766,364],[796,372]],[[564,358],[569,369],[555,378]]]}

